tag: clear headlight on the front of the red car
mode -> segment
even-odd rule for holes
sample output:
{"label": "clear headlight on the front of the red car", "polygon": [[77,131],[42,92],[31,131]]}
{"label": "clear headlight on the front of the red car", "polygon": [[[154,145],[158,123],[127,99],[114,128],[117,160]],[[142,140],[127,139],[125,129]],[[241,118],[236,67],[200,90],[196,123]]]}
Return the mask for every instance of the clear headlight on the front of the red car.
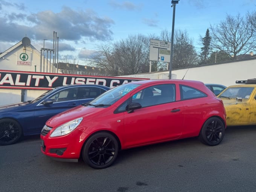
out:
{"label": "clear headlight on the front of the red car", "polygon": [[67,123],[57,127],[52,132],[50,137],[57,137],[57,136],[63,136],[63,135],[69,134],[70,132],[75,130],[75,128],[81,123],[82,120],[83,120],[83,118],[81,117],[81,118],[72,120],[70,122],[67,122]]}

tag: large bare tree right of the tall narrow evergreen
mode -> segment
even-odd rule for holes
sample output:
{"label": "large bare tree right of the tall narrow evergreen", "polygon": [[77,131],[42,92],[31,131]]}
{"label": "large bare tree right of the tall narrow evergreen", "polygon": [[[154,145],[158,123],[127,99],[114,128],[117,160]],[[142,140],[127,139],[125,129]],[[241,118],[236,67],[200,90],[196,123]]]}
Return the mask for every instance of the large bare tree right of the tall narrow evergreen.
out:
{"label": "large bare tree right of the tall narrow evergreen", "polygon": [[253,25],[240,14],[236,17],[227,15],[225,21],[221,21],[217,26],[211,25],[210,29],[213,49],[227,53],[232,59],[236,59],[239,54],[250,52],[255,47]]}

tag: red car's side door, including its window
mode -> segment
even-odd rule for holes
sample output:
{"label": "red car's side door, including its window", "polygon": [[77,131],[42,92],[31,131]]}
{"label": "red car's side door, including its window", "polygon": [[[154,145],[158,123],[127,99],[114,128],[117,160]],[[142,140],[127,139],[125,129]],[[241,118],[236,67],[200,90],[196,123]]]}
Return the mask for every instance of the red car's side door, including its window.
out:
{"label": "red car's side door, including its window", "polygon": [[[180,137],[184,116],[183,104],[175,101],[175,84],[161,85],[162,89],[174,91],[169,101],[161,99],[156,90],[159,85],[145,88],[131,95],[132,102],[139,102],[142,108],[133,113],[124,113],[126,146],[139,146]],[[156,95],[149,93],[153,91]],[[146,93],[147,92],[147,93]],[[162,92],[162,91],[161,91]],[[137,95],[140,95],[138,98]]]}

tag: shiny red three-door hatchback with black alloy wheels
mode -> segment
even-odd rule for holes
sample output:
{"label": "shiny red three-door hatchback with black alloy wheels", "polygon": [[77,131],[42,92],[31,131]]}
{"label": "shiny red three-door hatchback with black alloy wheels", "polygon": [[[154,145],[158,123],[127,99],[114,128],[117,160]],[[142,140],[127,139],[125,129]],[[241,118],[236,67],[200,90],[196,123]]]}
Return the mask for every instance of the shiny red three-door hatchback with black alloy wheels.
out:
{"label": "shiny red three-door hatchback with black alloy wheels", "polygon": [[82,157],[102,169],[121,149],[195,136],[218,145],[225,128],[224,105],[203,82],[136,81],[50,118],[41,132],[41,151],[62,161]]}

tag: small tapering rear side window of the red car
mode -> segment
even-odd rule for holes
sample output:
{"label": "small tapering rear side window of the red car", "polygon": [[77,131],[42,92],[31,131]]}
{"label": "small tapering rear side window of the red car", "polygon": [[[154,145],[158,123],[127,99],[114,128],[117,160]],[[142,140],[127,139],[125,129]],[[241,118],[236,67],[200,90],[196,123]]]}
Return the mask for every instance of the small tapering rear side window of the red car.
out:
{"label": "small tapering rear side window of the red car", "polygon": [[200,90],[186,85],[180,85],[180,91],[181,100],[207,97],[207,95]]}

